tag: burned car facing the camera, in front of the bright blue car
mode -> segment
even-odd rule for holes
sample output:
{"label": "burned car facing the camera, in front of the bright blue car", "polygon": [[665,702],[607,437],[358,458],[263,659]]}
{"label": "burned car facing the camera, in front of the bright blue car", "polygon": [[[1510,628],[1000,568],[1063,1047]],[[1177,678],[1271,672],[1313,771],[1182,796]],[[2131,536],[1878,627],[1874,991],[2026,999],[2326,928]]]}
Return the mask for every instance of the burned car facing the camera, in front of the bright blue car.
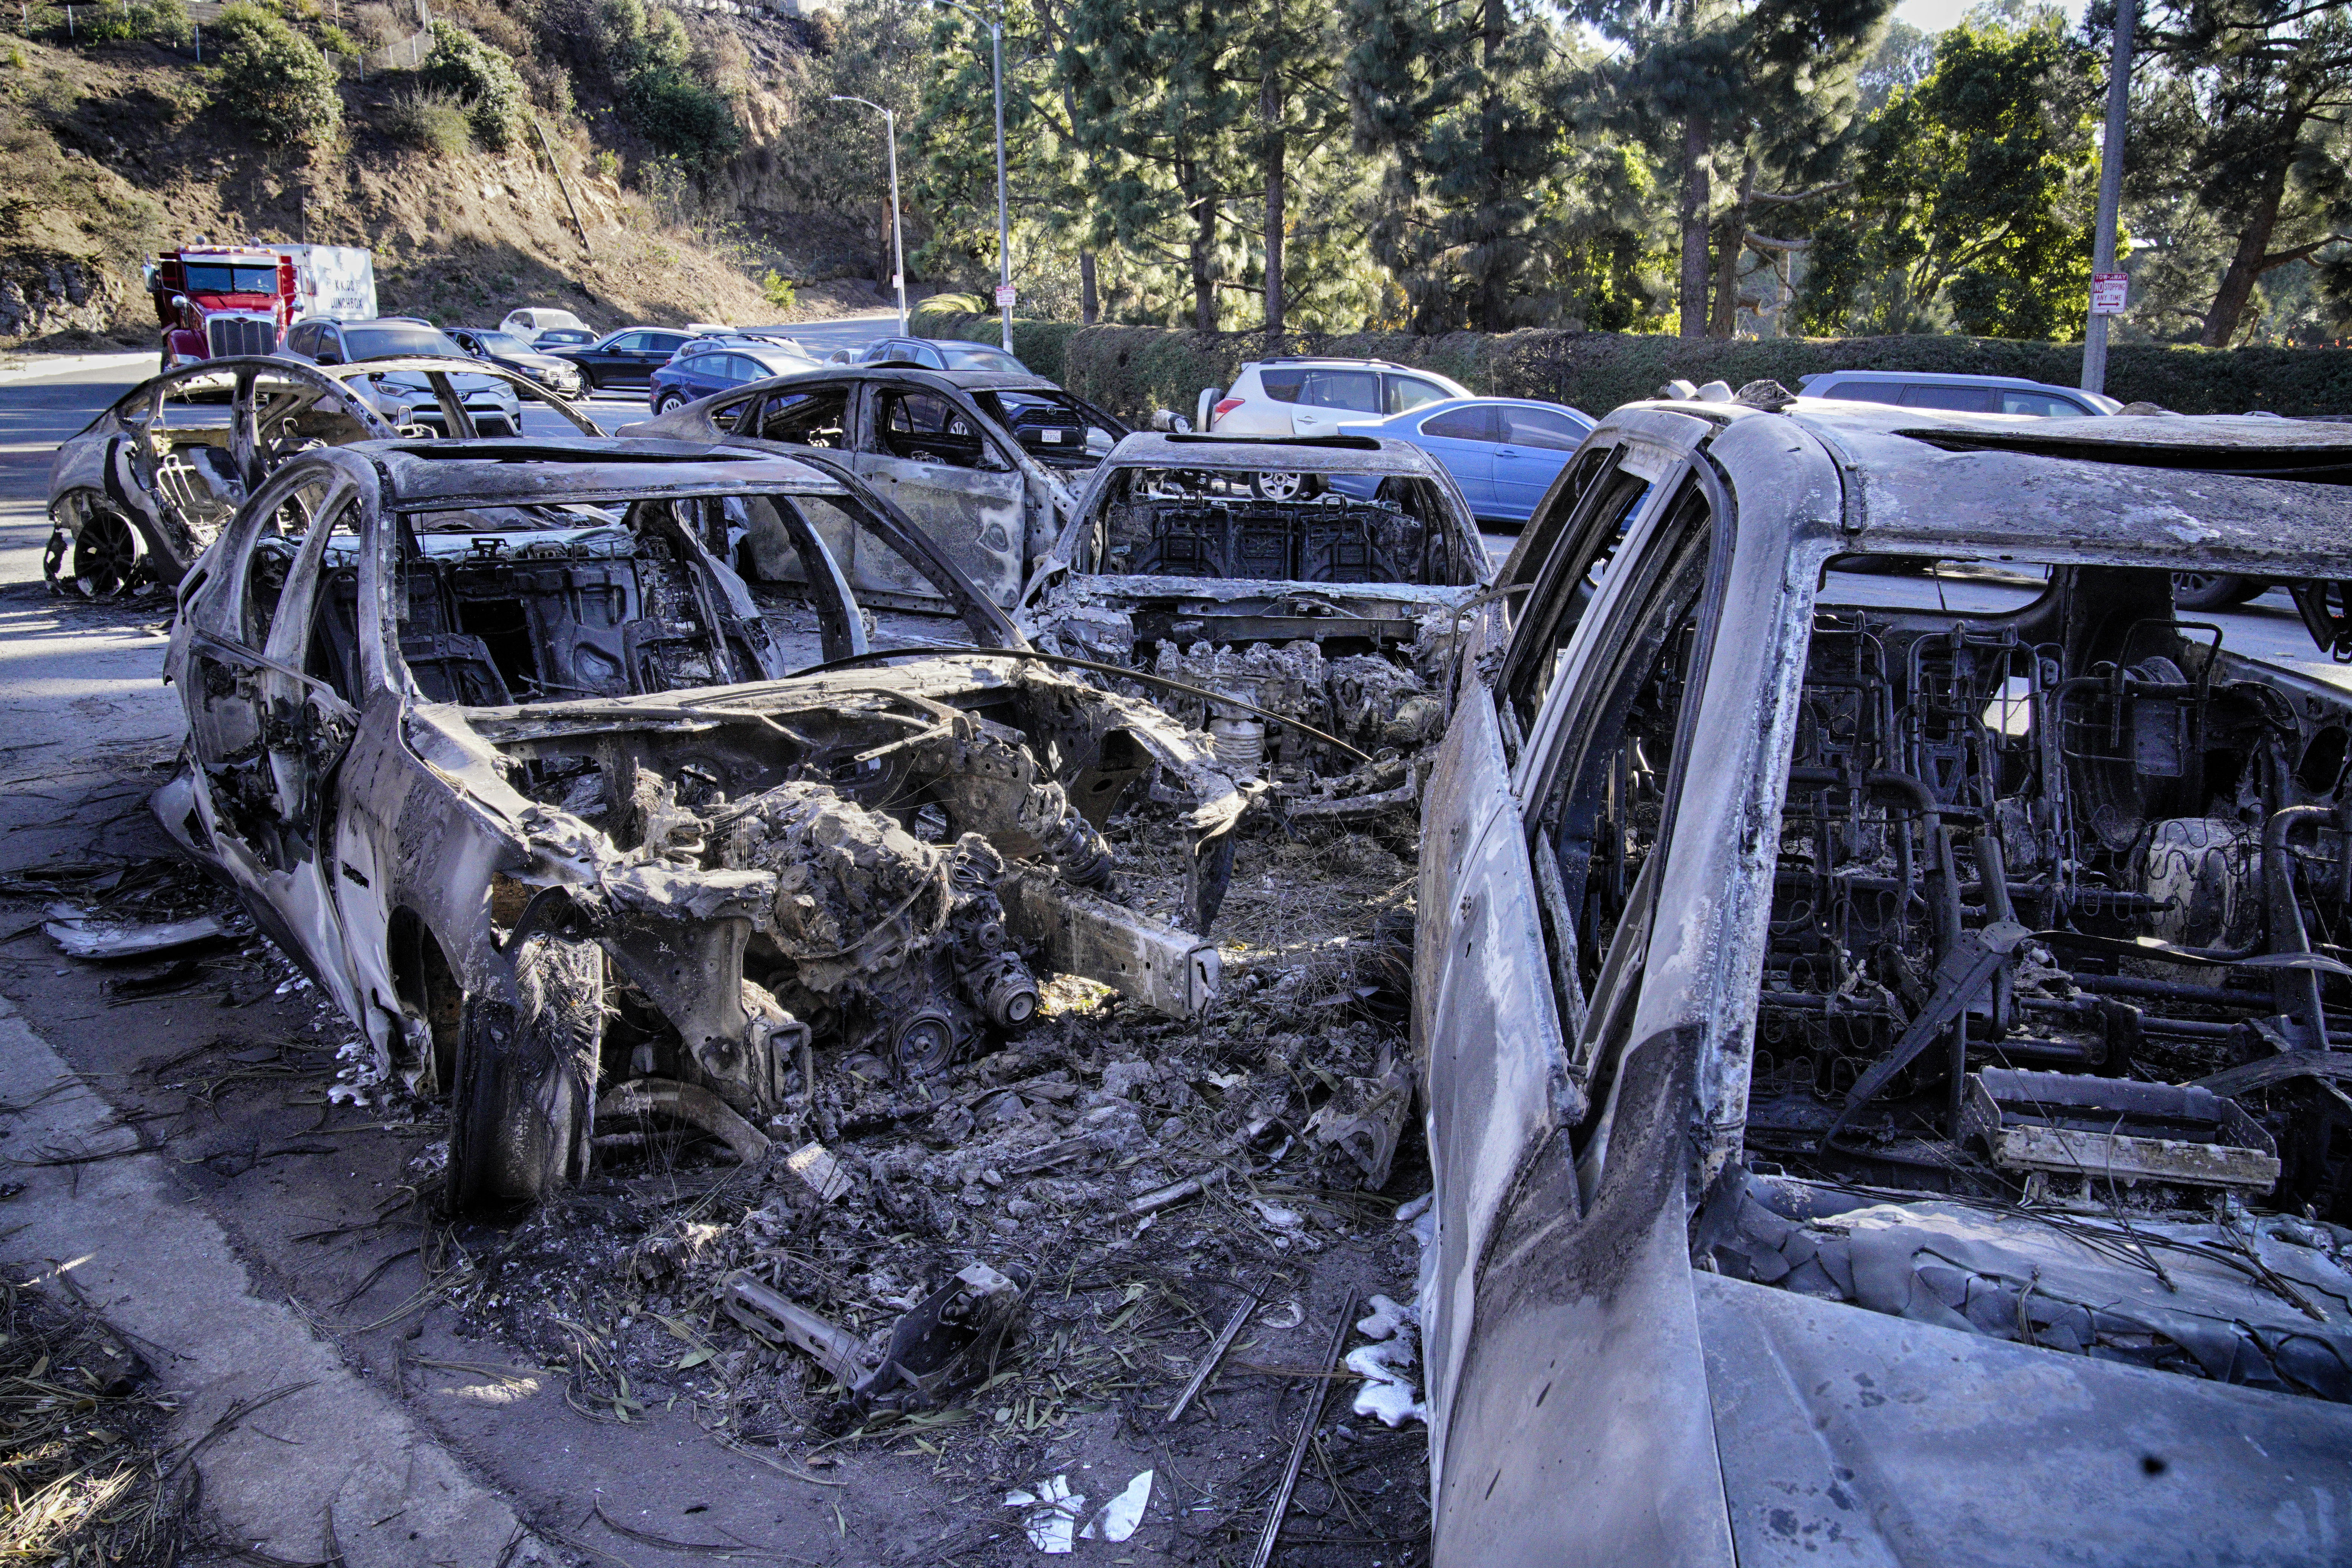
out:
{"label": "burned car facing the camera, in front of the bright blue car", "polygon": [[[1461,487],[1359,435],[1129,435],[1021,599],[1042,649],[1249,703],[1174,710],[1228,771],[1284,778],[1294,813],[1418,802],[1465,616],[1489,581]],[[1294,719],[1268,722],[1265,715]],[[1381,762],[1369,769],[1322,736]],[[1317,780],[1345,778],[1334,795]]]}

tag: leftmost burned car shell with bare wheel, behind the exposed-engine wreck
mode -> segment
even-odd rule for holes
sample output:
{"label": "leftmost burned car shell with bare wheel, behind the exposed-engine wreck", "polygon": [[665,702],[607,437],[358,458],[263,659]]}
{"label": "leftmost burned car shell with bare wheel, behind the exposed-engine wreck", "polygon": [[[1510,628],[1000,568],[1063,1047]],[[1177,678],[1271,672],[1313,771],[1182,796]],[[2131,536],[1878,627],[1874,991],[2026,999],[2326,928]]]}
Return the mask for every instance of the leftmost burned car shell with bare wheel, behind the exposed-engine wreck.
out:
{"label": "leftmost burned car shell with bare wheel, behind the exposed-engine wreck", "polygon": [[[522,435],[510,409],[543,404],[581,435],[588,416],[524,376],[470,360],[301,364],[245,355],[165,371],[115,400],[49,461],[52,592],[108,599],[169,588],[280,463],[318,447],[395,435]],[[480,428],[485,381],[501,386]]]}

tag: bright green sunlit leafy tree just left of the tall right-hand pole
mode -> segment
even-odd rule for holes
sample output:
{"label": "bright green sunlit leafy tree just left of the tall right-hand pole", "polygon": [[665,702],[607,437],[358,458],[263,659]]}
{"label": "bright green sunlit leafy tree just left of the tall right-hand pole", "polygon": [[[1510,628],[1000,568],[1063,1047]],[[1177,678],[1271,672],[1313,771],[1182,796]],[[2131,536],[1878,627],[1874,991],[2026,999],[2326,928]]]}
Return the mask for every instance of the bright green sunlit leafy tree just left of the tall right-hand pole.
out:
{"label": "bright green sunlit leafy tree just left of the tall right-hand pole", "polygon": [[1856,148],[1851,193],[1816,230],[1811,331],[2082,334],[2098,186],[2091,56],[2056,16],[1962,24]]}

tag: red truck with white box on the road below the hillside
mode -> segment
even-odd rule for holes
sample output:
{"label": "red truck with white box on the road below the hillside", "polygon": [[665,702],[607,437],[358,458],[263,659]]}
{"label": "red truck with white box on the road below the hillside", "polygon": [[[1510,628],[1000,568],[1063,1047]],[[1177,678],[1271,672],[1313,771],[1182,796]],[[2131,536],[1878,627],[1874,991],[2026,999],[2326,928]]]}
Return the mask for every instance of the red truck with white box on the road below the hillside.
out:
{"label": "red truck with white box on the road below the hillside", "polygon": [[209,244],[193,240],[146,268],[162,367],[278,353],[306,315],[376,315],[376,259],[350,244]]}

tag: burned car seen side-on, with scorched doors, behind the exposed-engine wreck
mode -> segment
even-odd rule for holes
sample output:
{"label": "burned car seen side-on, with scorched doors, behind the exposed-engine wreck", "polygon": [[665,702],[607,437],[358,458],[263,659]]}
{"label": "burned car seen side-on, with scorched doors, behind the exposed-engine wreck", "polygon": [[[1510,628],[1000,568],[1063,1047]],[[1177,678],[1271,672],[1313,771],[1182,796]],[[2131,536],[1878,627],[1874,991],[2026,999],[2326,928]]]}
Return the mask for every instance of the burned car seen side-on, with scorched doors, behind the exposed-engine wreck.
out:
{"label": "burned car seen side-on, with scorched doors, behind the exposed-engine wreck", "polygon": [[[858,364],[755,381],[689,402],[623,435],[847,454],[1000,607],[1021,597],[1073,515],[1073,487],[1127,425],[1051,381],[1007,371]],[[750,536],[748,576],[781,571],[781,541]],[[856,559],[861,592],[927,602],[887,559]]]}

